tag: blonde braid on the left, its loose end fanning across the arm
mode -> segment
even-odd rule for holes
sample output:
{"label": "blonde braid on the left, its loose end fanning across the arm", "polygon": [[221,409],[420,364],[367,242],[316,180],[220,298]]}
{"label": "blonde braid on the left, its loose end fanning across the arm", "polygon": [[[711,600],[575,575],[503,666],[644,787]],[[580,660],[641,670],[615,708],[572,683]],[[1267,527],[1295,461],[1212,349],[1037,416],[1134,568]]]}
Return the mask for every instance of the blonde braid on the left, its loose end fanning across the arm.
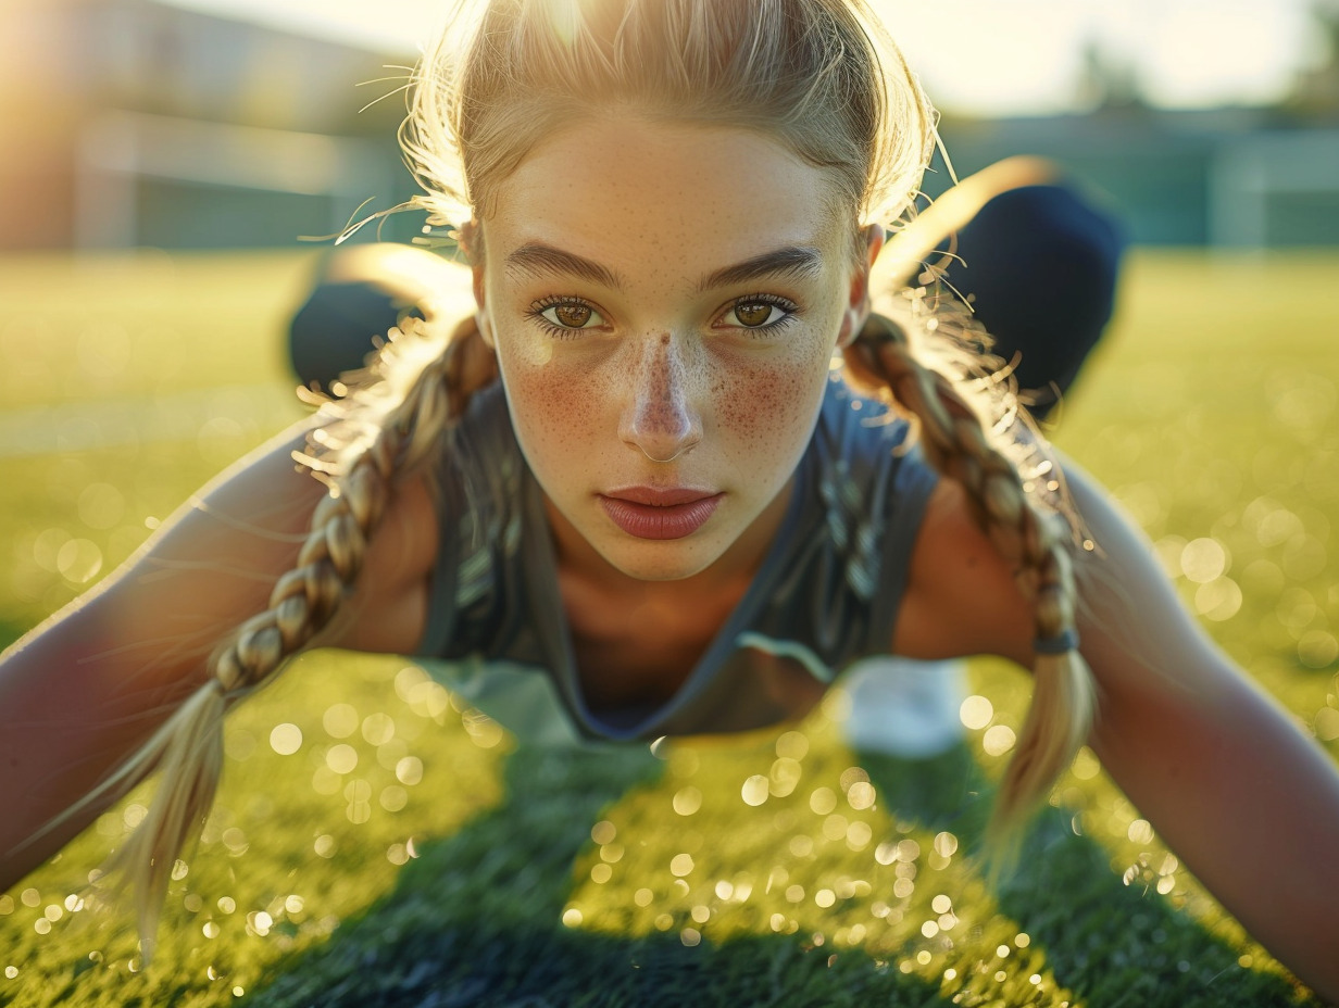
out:
{"label": "blonde braid on the left, its loose end fanning across the arm", "polygon": [[311,518],[296,566],[279,578],[268,608],[214,651],[209,681],[195,691],[138,752],[60,819],[125,795],[153,770],[161,783],[149,813],[108,865],[118,888],[133,890],[145,957],[153,953],[158,914],[173,865],[204,825],[222,771],[228,708],[272,680],[284,663],[329,622],[352,588],[395,479],[430,459],[442,434],[477,390],[497,376],[493,352],[473,319],[443,339],[418,319],[390,341],[352,391],[324,400],[299,465],[329,493]]}

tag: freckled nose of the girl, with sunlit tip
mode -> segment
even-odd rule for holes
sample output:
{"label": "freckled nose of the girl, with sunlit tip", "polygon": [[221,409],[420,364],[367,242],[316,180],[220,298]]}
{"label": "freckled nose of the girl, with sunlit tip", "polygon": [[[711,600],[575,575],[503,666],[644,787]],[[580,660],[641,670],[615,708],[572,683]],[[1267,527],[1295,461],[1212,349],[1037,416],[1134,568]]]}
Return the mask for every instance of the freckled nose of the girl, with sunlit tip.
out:
{"label": "freckled nose of the girl, with sunlit tip", "polygon": [[702,418],[690,395],[688,368],[670,333],[645,341],[623,415],[623,440],[652,462],[674,462],[702,440]]}

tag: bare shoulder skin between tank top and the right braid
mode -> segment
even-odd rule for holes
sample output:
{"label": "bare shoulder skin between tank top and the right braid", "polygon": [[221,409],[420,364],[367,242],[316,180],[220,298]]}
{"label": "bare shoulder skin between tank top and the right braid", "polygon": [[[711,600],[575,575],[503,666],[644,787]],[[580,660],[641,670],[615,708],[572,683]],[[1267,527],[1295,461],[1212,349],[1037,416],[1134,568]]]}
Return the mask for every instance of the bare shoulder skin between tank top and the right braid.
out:
{"label": "bare shoulder skin between tank top and the right braid", "polygon": [[967,490],[941,478],[925,506],[893,652],[917,659],[1003,655],[1026,663],[1032,616],[990,538],[976,525]]}

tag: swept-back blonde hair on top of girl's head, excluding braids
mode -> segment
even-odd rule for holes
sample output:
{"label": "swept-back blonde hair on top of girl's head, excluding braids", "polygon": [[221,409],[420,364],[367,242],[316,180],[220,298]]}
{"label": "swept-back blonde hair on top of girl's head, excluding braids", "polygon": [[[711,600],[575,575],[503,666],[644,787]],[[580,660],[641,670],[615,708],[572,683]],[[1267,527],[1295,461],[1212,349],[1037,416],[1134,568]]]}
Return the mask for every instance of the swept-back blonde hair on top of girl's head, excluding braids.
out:
{"label": "swept-back blonde hair on top of girl's head, excluding braids", "polygon": [[833,175],[844,210],[893,221],[917,194],[935,112],[864,0],[459,3],[419,64],[400,130],[451,225],[542,138],[607,111],[757,130]]}

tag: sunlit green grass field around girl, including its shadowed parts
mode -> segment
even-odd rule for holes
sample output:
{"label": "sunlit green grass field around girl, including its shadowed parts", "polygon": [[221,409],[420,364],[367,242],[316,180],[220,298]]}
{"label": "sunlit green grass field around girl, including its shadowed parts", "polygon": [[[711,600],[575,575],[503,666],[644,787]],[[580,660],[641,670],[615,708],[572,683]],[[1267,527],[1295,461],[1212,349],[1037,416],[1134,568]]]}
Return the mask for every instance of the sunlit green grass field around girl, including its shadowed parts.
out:
{"label": "sunlit green grass field around girl, including its shadowed parts", "polygon": [[[0,262],[5,643],[301,414],[280,328],[307,269]],[[1339,755],[1336,270],[1135,254],[1055,438]],[[142,791],[0,896],[0,1005],[1308,1003],[1087,751],[988,888],[1027,684],[977,663],[971,688],[968,744],[931,762],[858,760],[840,693],[783,732],[532,752],[403,659],[308,655],[229,722],[153,965],[80,896]]]}

